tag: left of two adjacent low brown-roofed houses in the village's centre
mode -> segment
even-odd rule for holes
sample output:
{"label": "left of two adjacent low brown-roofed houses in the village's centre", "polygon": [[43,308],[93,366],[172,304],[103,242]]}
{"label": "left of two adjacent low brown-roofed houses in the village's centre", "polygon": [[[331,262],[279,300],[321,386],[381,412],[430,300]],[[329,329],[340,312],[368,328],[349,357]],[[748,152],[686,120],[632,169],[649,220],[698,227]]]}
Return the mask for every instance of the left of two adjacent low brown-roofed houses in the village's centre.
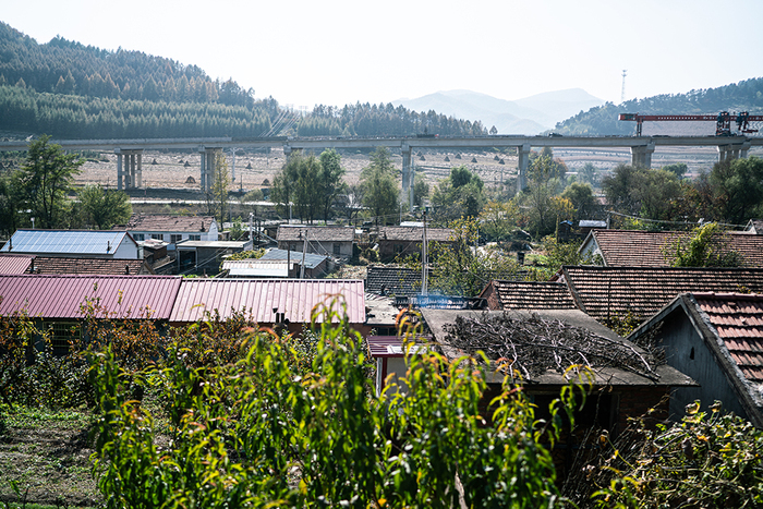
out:
{"label": "left of two adjacent low brown-roofed houses in the village's centre", "polygon": [[335,258],[351,258],[354,239],[355,230],[352,227],[281,225],[276,234],[279,250],[301,253],[304,249],[307,253]]}

